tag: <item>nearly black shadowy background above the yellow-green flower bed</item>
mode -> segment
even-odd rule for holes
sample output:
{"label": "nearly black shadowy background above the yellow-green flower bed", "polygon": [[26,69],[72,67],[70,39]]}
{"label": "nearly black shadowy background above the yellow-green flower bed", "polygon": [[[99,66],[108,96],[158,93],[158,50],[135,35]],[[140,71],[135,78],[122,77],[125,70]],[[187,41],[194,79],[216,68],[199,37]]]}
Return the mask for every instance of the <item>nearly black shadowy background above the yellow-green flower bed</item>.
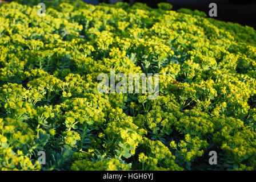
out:
{"label": "nearly black shadowy background above the yellow-green flower bed", "polygon": [[[121,0],[85,0],[85,2],[98,4],[99,2],[115,3]],[[215,19],[225,22],[234,22],[254,27],[256,30],[256,0],[124,0],[133,4],[135,2],[146,3],[148,6],[157,8],[157,3],[168,2],[173,5],[173,10],[187,8],[204,11],[209,15],[209,4],[217,4],[217,17]]]}

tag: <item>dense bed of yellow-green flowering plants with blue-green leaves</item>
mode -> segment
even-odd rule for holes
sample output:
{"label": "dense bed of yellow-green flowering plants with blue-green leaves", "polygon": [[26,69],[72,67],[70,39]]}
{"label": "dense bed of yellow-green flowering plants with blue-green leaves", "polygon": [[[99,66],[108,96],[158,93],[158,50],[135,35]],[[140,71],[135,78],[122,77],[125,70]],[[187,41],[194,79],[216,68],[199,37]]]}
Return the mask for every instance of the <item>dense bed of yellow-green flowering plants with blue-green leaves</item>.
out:
{"label": "dense bed of yellow-green flowering plants with blue-green leaves", "polygon": [[[0,169],[256,169],[253,28],[163,3],[40,17],[33,2],[0,6]],[[97,92],[113,68],[159,73],[159,97]]]}

